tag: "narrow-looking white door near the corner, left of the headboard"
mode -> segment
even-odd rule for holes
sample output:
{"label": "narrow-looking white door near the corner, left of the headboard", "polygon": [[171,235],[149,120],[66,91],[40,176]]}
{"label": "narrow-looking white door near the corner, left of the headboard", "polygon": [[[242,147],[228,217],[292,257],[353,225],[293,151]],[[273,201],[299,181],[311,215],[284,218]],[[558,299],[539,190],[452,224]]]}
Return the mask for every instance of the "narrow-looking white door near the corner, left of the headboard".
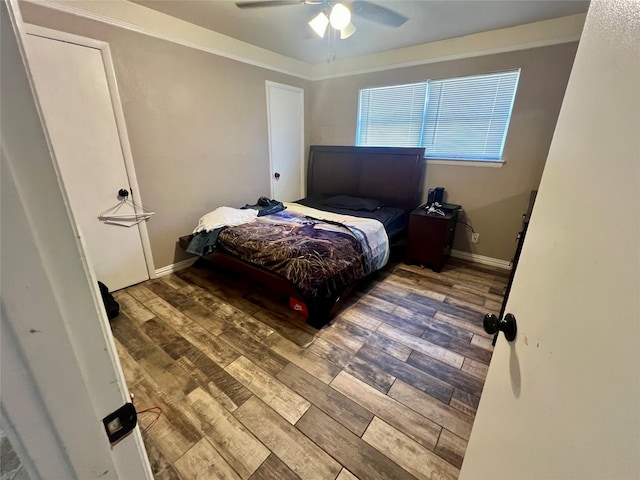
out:
{"label": "narrow-looking white door near the corner, left of the headboard", "polygon": [[292,202],[304,194],[304,90],[267,82],[271,198]]}

